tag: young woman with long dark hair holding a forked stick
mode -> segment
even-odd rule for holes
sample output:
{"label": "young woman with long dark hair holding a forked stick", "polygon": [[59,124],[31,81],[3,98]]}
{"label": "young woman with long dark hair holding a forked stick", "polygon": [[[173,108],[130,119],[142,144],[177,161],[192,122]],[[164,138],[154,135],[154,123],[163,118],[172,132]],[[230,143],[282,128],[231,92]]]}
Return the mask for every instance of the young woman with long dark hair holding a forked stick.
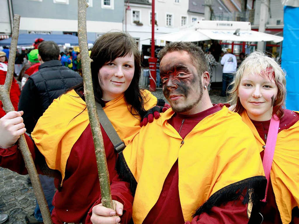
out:
{"label": "young woman with long dark hair holding a forked stick", "polygon": [[[141,56],[135,40],[126,33],[106,33],[91,50],[94,96],[117,131],[120,139],[129,139],[140,130],[145,111],[158,100],[140,90]],[[14,145],[26,129],[22,111],[9,112],[0,120],[0,166],[20,174],[27,170],[20,151]],[[118,201],[116,212],[121,223],[132,216],[133,196],[129,183],[121,181],[115,169],[118,154],[101,126],[112,198]],[[49,106],[34,128],[28,146],[41,174],[55,177],[52,211],[54,223],[91,223],[92,208],[100,204],[100,184],[94,144],[89,124],[83,83],[68,90]],[[123,197],[125,196],[125,197]],[[126,201],[121,200],[126,198]],[[119,217],[107,217],[120,222]]]}

